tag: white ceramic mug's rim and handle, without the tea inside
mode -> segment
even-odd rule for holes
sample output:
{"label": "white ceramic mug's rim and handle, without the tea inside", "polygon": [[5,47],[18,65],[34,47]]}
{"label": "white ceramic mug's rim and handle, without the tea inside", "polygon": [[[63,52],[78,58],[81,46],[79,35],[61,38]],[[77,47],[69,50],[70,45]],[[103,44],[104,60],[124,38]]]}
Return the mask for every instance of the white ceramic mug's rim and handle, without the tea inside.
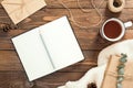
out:
{"label": "white ceramic mug's rim and handle, without the tea inside", "polygon": [[[111,22],[111,21],[114,21],[114,22],[119,23],[120,26],[121,26],[121,33],[119,34],[119,36],[113,37],[113,38],[108,37],[106,34],[105,34],[105,32],[104,32],[105,25],[106,25],[109,22]],[[115,18],[112,18],[112,19],[106,20],[106,21],[103,23],[102,28],[100,29],[100,35],[101,35],[103,38],[105,38],[105,40],[108,40],[108,41],[110,41],[110,42],[115,42],[115,41],[121,40],[121,38],[124,36],[124,34],[125,34],[125,29],[129,28],[129,26],[132,26],[132,25],[133,25],[132,21],[129,21],[129,22],[123,23],[121,20],[115,19]],[[113,24],[112,24],[112,26],[113,26]],[[111,32],[111,31],[110,31],[110,32]]]}

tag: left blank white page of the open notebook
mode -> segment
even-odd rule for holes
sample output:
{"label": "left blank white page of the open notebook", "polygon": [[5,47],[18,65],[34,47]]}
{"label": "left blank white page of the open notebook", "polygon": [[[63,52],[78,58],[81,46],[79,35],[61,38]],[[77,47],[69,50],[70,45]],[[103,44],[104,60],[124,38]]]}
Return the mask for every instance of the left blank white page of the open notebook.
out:
{"label": "left blank white page of the open notebook", "polygon": [[12,42],[30,81],[53,73],[53,67],[40,38],[39,28],[13,37]]}

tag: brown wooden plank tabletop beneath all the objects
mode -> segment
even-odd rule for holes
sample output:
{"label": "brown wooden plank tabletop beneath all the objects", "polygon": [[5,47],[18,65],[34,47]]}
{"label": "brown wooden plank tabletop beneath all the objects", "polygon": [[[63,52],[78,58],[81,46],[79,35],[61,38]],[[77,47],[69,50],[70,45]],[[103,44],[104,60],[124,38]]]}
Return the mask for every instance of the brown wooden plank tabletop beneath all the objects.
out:
{"label": "brown wooden plank tabletop beneath all the objects", "polygon": [[[92,8],[90,0],[81,0],[81,6],[89,10],[90,13],[81,12],[76,4],[76,0],[61,1],[71,8],[74,19],[83,25],[90,26],[92,23],[96,23],[100,19],[95,10]],[[100,1],[101,0],[95,0],[95,4],[99,6]],[[126,0],[126,6],[121,13],[111,13],[106,8],[106,1],[108,0],[105,0],[100,7],[103,21],[109,18],[119,18],[124,22],[133,19],[133,0]],[[33,28],[53,21],[62,15],[69,15],[66,9],[55,0],[47,0],[47,3],[48,6],[45,8],[20,22],[17,29],[12,29],[8,33],[0,31],[0,88],[55,88],[68,80],[76,80],[81,78],[86,70],[96,66],[96,58],[100,51],[112,44],[102,40],[99,35],[99,30],[103,21],[99,26],[86,30],[80,29],[71,22],[85,59],[54,74],[37,79],[33,82],[29,82],[10,38]],[[1,6],[0,22],[11,23],[11,25],[13,25]],[[126,30],[122,40],[133,38],[132,29],[133,28]]]}

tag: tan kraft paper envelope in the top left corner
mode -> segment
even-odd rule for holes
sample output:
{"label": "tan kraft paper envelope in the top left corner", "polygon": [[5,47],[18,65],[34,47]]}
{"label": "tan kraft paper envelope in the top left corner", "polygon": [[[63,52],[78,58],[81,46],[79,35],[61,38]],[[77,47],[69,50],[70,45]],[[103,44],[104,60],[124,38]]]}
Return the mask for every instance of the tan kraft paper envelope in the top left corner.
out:
{"label": "tan kraft paper envelope in the top left corner", "polygon": [[14,24],[47,6],[44,0],[3,0],[1,4]]}

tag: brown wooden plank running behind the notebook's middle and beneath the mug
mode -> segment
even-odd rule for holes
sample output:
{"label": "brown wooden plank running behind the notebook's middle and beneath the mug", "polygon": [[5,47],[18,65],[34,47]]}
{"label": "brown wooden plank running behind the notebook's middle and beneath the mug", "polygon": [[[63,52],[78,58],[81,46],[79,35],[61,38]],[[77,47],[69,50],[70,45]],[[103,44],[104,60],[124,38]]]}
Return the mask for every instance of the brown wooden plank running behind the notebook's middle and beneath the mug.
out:
{"label": "brown wooden plank running behind the notebook's middle and beneath the mug", "polygon": [[[14,50],[13,44],[10,38],[23,32],[24,30],[14,30],[14,31],[12,30],[8,33],[8,35],[6,33],[3,34],[0,33],[0,50]],[[111,42],[103,40],[99,35],[98,31],[86,32],[83,30],[79,30],[74,32],[75,32],[75,36],[82,50],[102,50],[113,44]],[[132,34],[133,34],[133,30],[126,30],[123,40],[133,38]]]}

